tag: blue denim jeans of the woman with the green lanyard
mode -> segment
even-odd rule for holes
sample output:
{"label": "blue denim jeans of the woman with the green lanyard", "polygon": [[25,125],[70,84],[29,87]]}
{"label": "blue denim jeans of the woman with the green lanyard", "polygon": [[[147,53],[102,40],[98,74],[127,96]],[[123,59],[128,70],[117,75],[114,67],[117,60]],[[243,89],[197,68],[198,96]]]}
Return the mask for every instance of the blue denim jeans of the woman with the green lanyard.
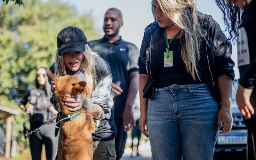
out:
{"label": "blue denim jeans of the woman with the green lanyard", "polygon": [[217,141],[219,107],[207,84],[155,89],[148,102],[154,160],[210,160]]}

